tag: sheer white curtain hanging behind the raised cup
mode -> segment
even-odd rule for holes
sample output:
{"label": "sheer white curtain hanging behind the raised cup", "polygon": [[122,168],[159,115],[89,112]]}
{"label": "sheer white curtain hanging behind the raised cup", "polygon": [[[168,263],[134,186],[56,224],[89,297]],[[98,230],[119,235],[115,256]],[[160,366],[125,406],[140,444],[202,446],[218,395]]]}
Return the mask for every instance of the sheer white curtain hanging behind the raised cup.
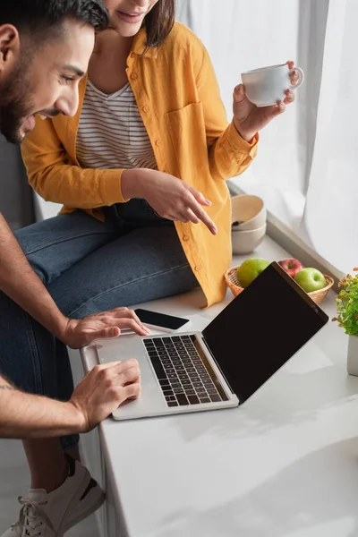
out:
{"label": "sheer white curtain hanging behind the raised cup", "polygon": [[294,105],[261,132],[234,179],[344,272],[358,265],[358,1],[177,0],[177,19],[208,48],[228,118],[240,73],[294,60]]}

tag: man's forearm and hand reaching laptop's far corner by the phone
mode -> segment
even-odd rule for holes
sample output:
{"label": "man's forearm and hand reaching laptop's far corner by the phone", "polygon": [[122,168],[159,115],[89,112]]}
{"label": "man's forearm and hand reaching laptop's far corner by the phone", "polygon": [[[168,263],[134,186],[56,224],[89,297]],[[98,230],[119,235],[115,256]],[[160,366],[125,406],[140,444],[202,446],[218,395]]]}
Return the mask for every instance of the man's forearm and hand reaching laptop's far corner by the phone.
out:
{"label": "man's forearm and hand reaching laptop's far corner by the phone", "polygon": [[117,337],[120,328],[132,328],[141,336],[149,333],[135,313],[126,308],[117,308],[84,320],[70,320],[65,317],[30,267],[29,261],[1,214],[0,290],[72,348],[88,345],[100,337]]}

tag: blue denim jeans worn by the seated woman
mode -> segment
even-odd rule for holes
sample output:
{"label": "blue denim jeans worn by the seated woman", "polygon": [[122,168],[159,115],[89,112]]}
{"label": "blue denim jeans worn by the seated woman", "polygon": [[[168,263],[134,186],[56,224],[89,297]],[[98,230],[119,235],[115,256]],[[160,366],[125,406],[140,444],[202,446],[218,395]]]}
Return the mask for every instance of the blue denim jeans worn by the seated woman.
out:
{"label": "blue denim jeans worn by the seated woman", "polygon": [[[66,316],[80,319],[198,286],[172,222],[142,200],[106,209],[106,214],[102,223],[77,210],[16,233]],[[66,346],[1,293],[0,342],[0,372],[15,386],[59,400],[72,396]],[[61,441],[68,449],[78,437]]]}

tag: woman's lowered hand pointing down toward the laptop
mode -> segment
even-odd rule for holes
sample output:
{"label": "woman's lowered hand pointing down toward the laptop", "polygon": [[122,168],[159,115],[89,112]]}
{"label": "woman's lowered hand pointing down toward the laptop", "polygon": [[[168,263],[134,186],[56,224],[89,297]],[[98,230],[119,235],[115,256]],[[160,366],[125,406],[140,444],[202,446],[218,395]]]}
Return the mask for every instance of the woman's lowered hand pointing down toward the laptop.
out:
{"label": "woman's lowered hand pointing down toward the laptop", "polygon": [[159,217],[184,224],[203,222],[212,234],[217,234],[217,226],[203,209],[211,201],[173,175],[143,168],[125,170],[122,193],[124,198],[143,198]]}

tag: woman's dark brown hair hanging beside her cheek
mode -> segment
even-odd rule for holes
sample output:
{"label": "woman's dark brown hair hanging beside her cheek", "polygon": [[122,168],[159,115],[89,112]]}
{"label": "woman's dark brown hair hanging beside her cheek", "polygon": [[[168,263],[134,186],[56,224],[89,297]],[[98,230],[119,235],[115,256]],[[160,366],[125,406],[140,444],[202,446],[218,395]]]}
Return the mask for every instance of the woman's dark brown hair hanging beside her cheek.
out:
{"label": "woman's dark brown hair hanging beside her cheek", "polygon": [[163,45],[173,29],[174,22],[175,0],[158,0],[144,21],[147,31],[147,48]]}

